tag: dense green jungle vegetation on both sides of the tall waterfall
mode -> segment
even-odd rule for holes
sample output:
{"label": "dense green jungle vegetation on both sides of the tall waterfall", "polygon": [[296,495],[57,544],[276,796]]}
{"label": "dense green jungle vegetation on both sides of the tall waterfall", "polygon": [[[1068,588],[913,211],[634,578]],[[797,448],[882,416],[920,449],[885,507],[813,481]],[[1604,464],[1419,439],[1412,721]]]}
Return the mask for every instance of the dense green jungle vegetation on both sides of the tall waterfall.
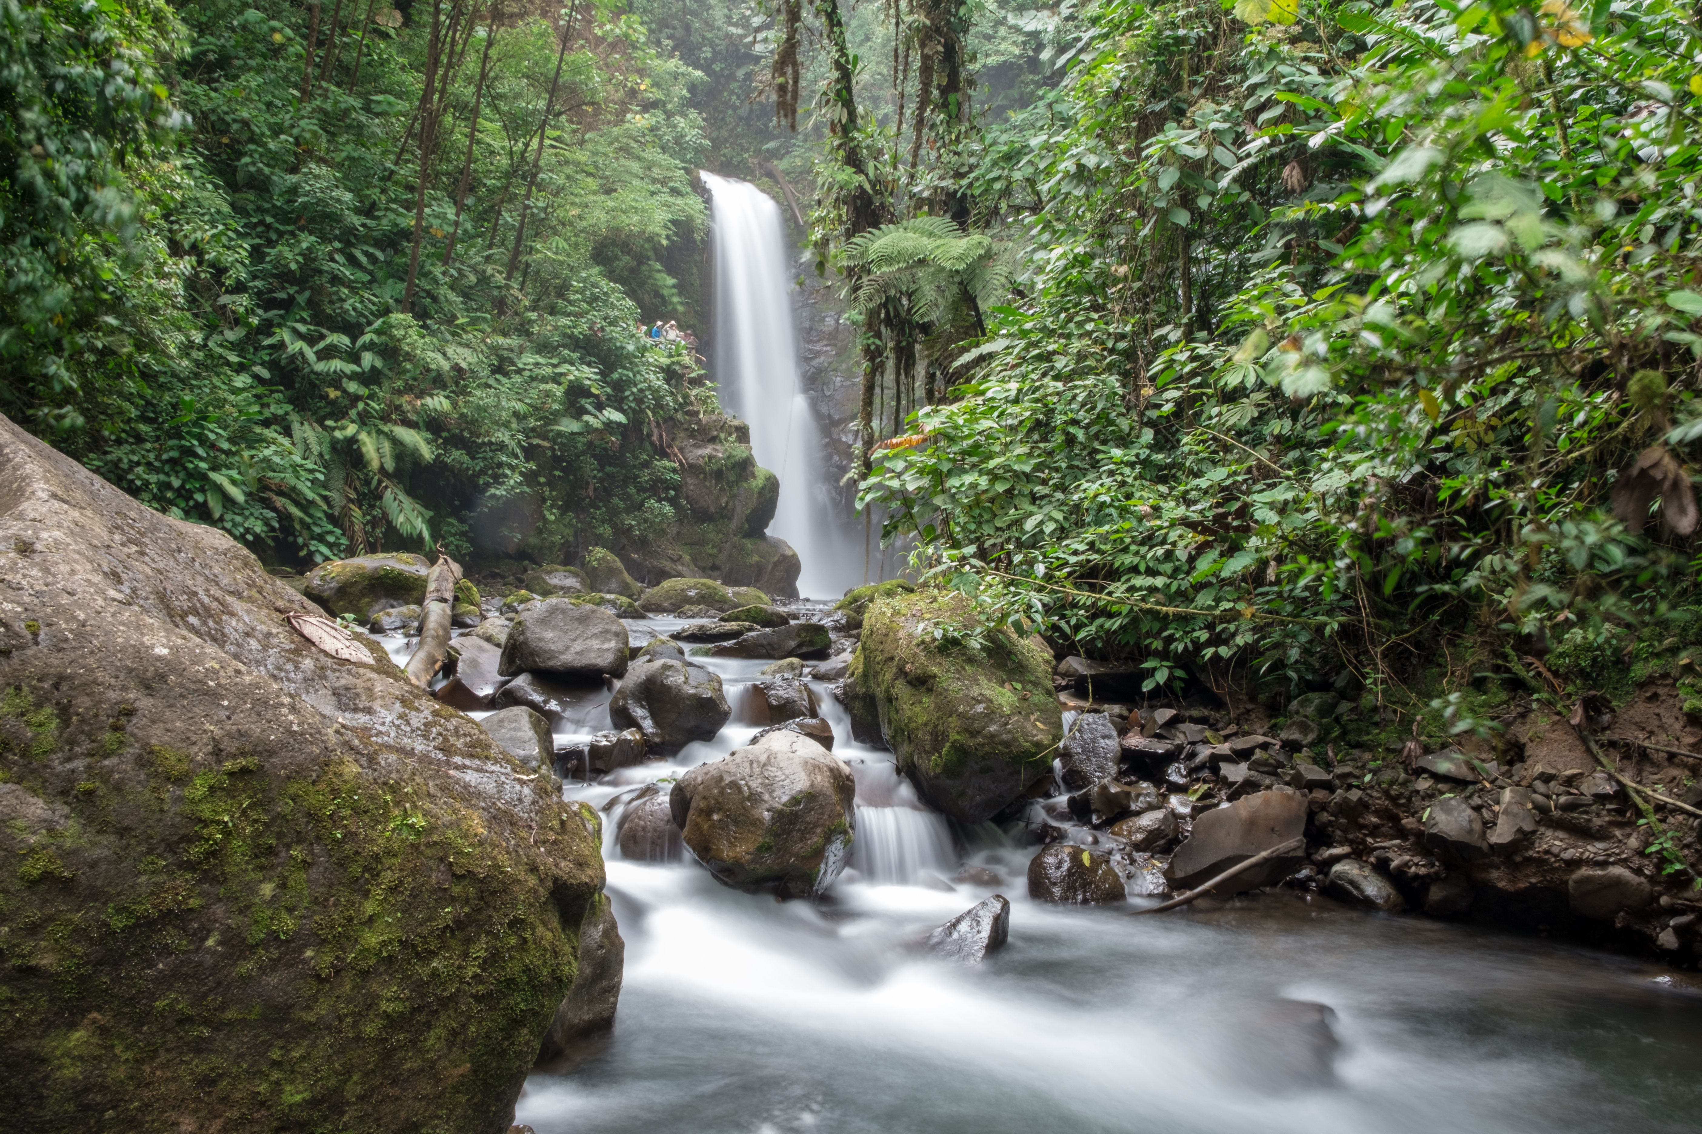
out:
{"label": "dense green jungle vegetation on both sides of the tall waterfall", "polygon": [[631,328],[701,326],[701,163],[802,221],[863,498],[997,619],[1152,689],[1699,634],[1690,9],[0,19],[3,408],[254,546],[461,549],[524,488],[557,542],[669,522],[710,394]]}

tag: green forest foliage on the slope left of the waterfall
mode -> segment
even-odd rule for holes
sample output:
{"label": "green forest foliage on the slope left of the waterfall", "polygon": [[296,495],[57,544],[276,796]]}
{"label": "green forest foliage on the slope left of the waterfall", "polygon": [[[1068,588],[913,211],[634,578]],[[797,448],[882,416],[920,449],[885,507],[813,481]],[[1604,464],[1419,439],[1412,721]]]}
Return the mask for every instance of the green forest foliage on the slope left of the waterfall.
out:
{"label": "green forest foliage on the slope left of the waterfall", "polygon": [[480,14],[422,162],[431,9],[346,9],[335,34],[293,0],[0,12],[5,411],[286,558],[465,554],[509,496],[563,537],[669,522],[650,423],[693,362],[633,328],[684,304],[664,260],[703,231],[694,75],[618,9]]}

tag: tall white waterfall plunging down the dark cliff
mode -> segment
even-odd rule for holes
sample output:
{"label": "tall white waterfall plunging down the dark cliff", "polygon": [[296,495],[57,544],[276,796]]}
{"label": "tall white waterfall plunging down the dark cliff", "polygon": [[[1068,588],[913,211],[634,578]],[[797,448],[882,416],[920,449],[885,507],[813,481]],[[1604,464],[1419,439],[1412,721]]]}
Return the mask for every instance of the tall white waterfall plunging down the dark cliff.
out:
{"label": "tall white waterfall plunging down the dark cliff", "polygon": [[798,381],[780,206],[747,182],[703,173],[703,184],[713,197],[722,405],[751,425],[757,464],[780,478],[780,507],[768,530],[798,553],[798,593],[836,598],[863,581],[863,551],[860,532],[834,507],[822,432]]}

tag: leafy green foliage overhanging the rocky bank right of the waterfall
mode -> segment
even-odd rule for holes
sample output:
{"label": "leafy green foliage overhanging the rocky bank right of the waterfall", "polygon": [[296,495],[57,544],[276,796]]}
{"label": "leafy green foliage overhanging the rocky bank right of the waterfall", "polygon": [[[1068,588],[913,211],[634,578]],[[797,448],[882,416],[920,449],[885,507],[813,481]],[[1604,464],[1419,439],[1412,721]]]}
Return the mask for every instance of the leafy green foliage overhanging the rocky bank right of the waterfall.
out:
{"label": "leafy green foliage overhanging the rocky bank right of the waterfall", "polygon": [[1006,617],[1212,683],[1682,614],[1682,508],[1608,490],[1702,437],[1693,20],[1278,9],[1088,12],[975,173],[1045,252],[863,498]]}

